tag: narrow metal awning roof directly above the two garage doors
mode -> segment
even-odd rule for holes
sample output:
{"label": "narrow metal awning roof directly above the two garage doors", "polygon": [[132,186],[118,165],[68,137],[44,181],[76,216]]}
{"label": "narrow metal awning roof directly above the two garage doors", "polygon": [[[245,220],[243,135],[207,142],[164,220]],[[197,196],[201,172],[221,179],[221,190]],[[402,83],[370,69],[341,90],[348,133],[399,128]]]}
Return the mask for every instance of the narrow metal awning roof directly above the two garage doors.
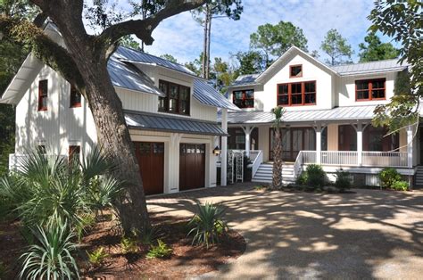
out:
{"label": "narrow metal awning roof directly above the two garage doors", "polygon": [[153,131],[166,131],[185,134],[228,136],[217,123],[182,119],[161,114],[125,112],[125,120],[129,128]]}

